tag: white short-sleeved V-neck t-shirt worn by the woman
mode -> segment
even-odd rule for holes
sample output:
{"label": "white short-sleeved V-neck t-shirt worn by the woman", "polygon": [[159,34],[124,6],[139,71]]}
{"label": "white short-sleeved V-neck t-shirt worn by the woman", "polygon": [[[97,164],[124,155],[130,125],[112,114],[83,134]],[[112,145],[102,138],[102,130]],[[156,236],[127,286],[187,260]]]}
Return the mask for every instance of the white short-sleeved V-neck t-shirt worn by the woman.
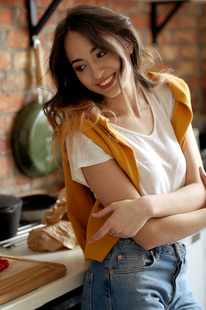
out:
{"label": "white short-sleeved V-neck t-shirt worn by the woman", "polygon": [[[171,125],[175,99],[168,85],[156,87],[155,94],[142,88],[151,106],[154,128],[143,135],[110,123],[134,150],[140,176],[140,195],[166,194],[184,186],[186,161]],[[82,167],[105,162],[112,157],[91,139],[75,132],[73,154],[66,139],[66,148],[73,180],[88,184]]]}

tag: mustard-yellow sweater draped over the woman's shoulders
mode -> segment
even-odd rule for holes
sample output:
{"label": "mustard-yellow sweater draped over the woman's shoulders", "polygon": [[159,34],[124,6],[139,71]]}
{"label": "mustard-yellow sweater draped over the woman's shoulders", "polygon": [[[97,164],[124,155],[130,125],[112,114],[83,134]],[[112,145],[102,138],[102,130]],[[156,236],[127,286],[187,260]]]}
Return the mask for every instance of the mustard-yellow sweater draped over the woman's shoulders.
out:
{"label": "mustard-yellow sweater draped over the woman's shoulders", "polygon": [[[158,73],[148,73],[149,78],[155,78],[156,75],[158,75]],[[192,120],[190,92],[187,84],[179,78],[167,77],[166,81],[175,98],[171,124],[177,141],[183,151],[187,128]],[[83,133],[117,160],[120,167],[124,170],[139,192],[139,170],[134,152],[124,141],[122,136],[108,124],[108,121],[107,118],[103,116],[100,117],[99,123],[106,129],[105,131],[96,125],[89,127],[89,124],[85,122],[82,128]],[[88,239],[99,230],[109,215],[103,218],[93,218],[91,216],[92,213],[101,210],[103,206],[98,199],[96,200],[94,198],[89,188],[72,180],[65,145],[65,135],[66,129],[62,134],[61,147],[67,192],[68,216],[84,253],[84,258],[102,261],[119,237],[106,234],[100,240],[91,244],[88,243]],[[111,139],[111,136],[113,139]]]}

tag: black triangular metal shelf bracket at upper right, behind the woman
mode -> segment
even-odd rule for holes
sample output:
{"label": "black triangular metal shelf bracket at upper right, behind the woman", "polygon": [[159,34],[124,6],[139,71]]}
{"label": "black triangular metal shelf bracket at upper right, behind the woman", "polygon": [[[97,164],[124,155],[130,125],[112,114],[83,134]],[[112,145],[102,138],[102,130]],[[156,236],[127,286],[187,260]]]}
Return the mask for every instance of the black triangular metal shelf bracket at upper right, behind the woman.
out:
{"label": "black triangular metal shelf bracket at upper right, behind the woman", "polygon": [[[157,35],[159,32],[165,27],[165,24],[168,22],[168,20],[173,16],[173,14],[177,11],[177,9],[180,7],[180,5],[183,2],[187,2],[188,0],[182,0],[178,2],[174,1],[161,1],[161,2],[152,2],[151,3],[151,30],[152,30],[152,38],[153,43],[156,43]],[[168,13],[168,15],[165,17],[165,20],[162,22],[161,25],[157,25],[157,5],[162,3],[174,3],[173,9]]]}

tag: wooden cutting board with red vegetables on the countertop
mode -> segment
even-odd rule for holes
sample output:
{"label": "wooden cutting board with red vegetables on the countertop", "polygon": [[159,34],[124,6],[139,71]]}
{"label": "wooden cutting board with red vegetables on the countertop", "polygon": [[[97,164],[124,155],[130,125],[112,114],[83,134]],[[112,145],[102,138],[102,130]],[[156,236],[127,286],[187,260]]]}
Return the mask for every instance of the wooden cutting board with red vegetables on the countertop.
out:
{"label": "wooden cutting board with red vegetables on the countertop", "polygon": [[0,272],[0,305],[63,277],[60,263],[0,255],[9,266]]}

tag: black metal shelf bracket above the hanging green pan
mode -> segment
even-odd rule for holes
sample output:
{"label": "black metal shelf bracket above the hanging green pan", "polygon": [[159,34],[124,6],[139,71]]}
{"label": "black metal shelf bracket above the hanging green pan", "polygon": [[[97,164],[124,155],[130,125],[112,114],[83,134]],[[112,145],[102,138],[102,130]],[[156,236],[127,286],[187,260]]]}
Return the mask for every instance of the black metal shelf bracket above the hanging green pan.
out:
{"label": "black metal shelf bracket above the hanging green pan", "polygon": [[48,18],[51,16],[51,14],[53,13],[53,11],[55,10],[60,1],[61,0],[53,0],[49,5],[49,7],[44,12],[44,14],[42,15],[41,19],[38,21],[36,0],[27,0],[31,45],[33,45],[34,40],[37,39],[37,36],[41,31],[42,27],[44,26]]}

